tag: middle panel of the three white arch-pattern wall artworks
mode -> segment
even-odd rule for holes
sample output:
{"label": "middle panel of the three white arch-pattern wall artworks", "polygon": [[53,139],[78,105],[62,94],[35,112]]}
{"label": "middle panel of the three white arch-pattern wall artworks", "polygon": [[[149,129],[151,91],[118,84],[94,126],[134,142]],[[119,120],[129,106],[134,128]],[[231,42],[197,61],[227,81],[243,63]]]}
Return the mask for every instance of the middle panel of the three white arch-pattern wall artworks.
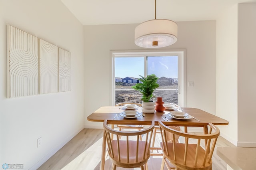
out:
{"label": "middle panel of the three white arch-pattern wall artworks", "polygon": [[40,94],[58,92],[58,47],[40,39]]}

